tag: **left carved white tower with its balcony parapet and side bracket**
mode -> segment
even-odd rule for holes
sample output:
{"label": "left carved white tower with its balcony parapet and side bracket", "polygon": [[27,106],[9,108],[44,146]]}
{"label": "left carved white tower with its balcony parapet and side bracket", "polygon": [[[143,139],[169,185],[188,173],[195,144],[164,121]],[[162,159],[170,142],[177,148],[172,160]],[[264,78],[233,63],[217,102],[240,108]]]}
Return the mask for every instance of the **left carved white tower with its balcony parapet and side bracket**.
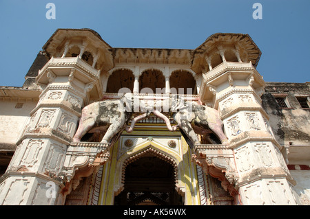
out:
{"label": "left carved white tower with its balcony parapet and side bracket", "polygon": [[79,57],[51,58],[37,82],[44,89],[3,175],[0,205],[63,204],[64,182],[102,152],[102,146],[70,146],[90,91],[101,93],[99,72]]}

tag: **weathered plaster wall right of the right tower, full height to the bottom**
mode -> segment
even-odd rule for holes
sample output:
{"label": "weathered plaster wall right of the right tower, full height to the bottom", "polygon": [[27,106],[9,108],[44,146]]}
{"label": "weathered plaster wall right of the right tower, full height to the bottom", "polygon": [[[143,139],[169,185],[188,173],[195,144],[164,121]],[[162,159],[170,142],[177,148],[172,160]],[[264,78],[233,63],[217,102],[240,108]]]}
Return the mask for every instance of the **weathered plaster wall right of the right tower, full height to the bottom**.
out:
{"label": "weathered plaster wall right of the right tower, full height to the bottom", "polygon": [[[309,82],[267,82],[266,93],[262,95],[262,106],[270,117],[273,133],[288,148],[288,163],[293,167],[289,169],[302,205],[310,205],[310,109],[302,108],[296,97],[308,96],[309,100],[309,86]],[[287,108],[280,108],[275,97],[284,97]],[[300,166],[308,168],[301,170]]]}

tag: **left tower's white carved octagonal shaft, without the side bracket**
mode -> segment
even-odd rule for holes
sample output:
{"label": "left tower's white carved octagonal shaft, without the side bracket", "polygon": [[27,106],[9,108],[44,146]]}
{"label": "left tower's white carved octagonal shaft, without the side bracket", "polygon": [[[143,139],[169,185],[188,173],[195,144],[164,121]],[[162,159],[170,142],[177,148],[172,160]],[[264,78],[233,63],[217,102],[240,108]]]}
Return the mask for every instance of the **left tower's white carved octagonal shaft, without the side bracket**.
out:
{"label": "left tower's white carved octagonal shaft, without the side bracket", "polygon": [[[63,205],[61,178],[65,154],[87,100],[87,91],[92,87],[89,81],[76,83],[77,72],[82,73],[72,68],[66,78],[59,66],[54,69],[49,66],[39,75],[39,82],[45,82],[47,87],[30,113],[30,122],[3,174],[0,205]],[[76,84],[83,88],[77,89]]]}

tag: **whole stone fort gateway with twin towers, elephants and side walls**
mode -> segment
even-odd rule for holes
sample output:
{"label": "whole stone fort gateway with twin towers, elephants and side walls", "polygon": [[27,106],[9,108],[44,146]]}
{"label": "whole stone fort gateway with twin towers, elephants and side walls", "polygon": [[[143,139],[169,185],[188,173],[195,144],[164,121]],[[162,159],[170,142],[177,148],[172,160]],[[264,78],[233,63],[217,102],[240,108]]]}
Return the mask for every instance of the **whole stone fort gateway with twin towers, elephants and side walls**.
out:
{"label": "whole stone fort gateway with twin towers, elephants and side walls", "polygon": [[248,34],[115,48],[58,29],[0,87],[0,205],[309,205],[309,82]]}

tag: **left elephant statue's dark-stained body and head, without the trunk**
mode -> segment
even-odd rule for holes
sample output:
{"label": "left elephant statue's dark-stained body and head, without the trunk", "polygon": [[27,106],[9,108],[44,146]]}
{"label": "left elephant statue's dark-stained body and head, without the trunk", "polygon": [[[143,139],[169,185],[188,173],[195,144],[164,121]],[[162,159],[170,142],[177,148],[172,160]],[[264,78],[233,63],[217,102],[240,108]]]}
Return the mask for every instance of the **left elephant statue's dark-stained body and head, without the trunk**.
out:
{"label": "left elephant statue's dark-stained body and head, without the trunk", "polygon": [[73,137],[74,142],[81,141],[87,133],[105,132],[101,143],[114,143],[132,117],[128,110],[130,102],[123,97],[119,100],[103,100],[85,106],[82,110],[79,128]]}

